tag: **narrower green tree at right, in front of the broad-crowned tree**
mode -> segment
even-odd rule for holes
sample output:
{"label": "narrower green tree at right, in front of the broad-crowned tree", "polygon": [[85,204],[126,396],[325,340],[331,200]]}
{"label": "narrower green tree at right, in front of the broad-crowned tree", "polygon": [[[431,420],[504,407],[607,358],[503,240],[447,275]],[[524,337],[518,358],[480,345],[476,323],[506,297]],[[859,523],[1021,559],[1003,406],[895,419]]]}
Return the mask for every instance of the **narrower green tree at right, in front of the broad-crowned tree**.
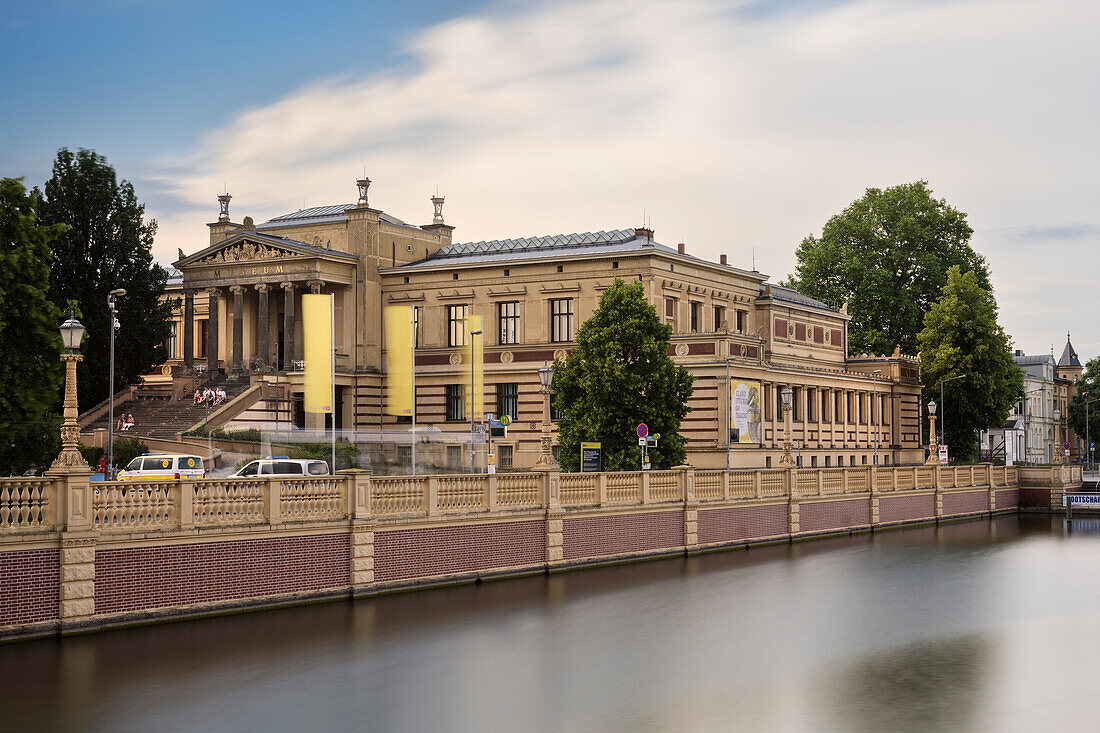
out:
{"label": "narrower green tree at right, in front of the broad-crowned tree", "polygon": [[947,284],[917,340],[925,400],[939,400],[939,380],[966,375],[945,385],[950,409],[941,411],[941,419],[952,460],[968,462],[978,449],[978,430],[1003,425],[1024,393],[1023,372],[997,322],[997,302],[975,271],[958,265],[947,271]]}

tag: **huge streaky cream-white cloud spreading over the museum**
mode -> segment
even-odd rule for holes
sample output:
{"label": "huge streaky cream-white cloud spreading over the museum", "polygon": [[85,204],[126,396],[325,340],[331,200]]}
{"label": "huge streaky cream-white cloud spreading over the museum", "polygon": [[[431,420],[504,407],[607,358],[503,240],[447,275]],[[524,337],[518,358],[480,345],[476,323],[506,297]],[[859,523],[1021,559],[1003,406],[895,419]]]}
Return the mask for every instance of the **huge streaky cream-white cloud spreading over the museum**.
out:
{"label": "huge streaky cream-white cloud spreading over the museum", "polygon": [[[662,241],[744,264],[755,247],[783,275],[864,188],[926,178],[1010,277],[997,231],[1091,226],[1044,239],[1031,222],[1091,217],[1098,21],[1094,3],[1043,0],[499,6],[424,30],[400,68],[240,111],[165,162],[151,177],[177,204],[155,211],[158,252],[202,244],[223,182],[234,215],[261,220],[353,200],[365,166],[372,204],[413,221],[438,186],[459,239],[645,209]],[[1022,327],[1026,304],[1001,305]]]}

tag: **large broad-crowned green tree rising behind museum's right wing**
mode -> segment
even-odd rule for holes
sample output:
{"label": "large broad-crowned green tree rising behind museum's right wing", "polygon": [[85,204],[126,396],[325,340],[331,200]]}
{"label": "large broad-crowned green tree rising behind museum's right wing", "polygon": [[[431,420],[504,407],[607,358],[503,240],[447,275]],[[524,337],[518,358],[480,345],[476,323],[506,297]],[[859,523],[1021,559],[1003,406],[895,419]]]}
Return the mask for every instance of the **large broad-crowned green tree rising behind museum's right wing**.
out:
{"label": "large broad-crowned green tree rising behind museum's right wing", "polygon": [[821,238],[799,244],[785,284],[839,307],[848,304],[849,351],[915,353],[924,315],[947,270],[972,271],[990,289],[985,259],[970,247],[966,215],[932,197],[927,182],[868,188],[831,218]]}

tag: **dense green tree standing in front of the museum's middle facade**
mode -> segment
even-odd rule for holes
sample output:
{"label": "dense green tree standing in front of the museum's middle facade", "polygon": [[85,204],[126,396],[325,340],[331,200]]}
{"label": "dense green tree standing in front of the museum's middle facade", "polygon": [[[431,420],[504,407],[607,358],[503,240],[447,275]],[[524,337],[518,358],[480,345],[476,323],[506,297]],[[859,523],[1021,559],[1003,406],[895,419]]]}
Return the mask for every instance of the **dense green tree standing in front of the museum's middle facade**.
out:
{"label": "dense green tree standing in front of the museum's middle facade", "polygon": [[661,436],[649,451],[654,467],[683,462],[680,422],[691,409],[694,378],[669,358],[671,337],[672,328],[657,317],[641,283],[616,278],[604,291],[600,307],[576,331],[576,349],[554,364],[564,470],[578,470],[581,441],[590,440],[603,444],[605,469],[640,468],[639,423]]}

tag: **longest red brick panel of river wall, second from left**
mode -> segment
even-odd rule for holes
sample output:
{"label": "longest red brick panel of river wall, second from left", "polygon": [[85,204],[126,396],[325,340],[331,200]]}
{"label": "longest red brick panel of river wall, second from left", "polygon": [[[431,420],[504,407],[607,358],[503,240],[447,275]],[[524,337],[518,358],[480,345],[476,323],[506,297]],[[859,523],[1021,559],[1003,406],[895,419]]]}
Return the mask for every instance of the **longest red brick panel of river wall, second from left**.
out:
{"label": "longest red brick panel of river wall, second from left", "polygon": [[329,588],[351,581],[348,534],[96,550],[96,613]]}

